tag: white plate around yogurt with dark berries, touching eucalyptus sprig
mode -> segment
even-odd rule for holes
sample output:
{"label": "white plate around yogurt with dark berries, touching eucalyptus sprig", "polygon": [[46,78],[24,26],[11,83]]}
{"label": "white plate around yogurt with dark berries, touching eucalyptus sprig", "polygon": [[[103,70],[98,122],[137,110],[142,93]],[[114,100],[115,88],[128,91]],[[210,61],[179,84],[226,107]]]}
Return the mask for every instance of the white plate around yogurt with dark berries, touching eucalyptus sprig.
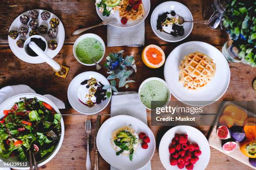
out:
{"label": "white plate around yogurt with dark berries, touching eucalyptus sprig", "polygon": [[[102,111],[103,109],[105,109],[105,107],[107,107],[111,99],[111,97],[107,98],[106,100],[101,102],[99,105],[95,105],[93,107],[87,107],[86,105],[83,105],[78,100],[77,90],[79,85],[81,84],[81,82],[83,82],[84,80],[88,80],[91,77],[94,77],[97,81],[100,81],[103,85],[109,85],[108,80],[100,73],[97,73],[94,71],[87,71],[87,72],[82,72],[81,74],[73,78],[73,80],[69,84],[69,88],[67,92],[69,103],[74,108],[74,110],[77,110],[77,112],[80,112],[86,115],[92,115]],[[111,92],[111,89],[109,91]]]}

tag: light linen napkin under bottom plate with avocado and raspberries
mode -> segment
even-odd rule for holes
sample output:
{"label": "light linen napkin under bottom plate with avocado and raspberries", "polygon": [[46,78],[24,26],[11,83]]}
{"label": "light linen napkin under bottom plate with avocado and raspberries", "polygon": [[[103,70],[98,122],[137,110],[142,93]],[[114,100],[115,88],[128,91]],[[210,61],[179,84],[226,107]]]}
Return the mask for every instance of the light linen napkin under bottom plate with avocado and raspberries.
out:
{"label": "light linen napkin under bottom plate with avocado and raspberries", "polygon": [[[147,125],[147,114],[146,108],[141,104],[140,99],[138,97],[138,93],[126,94],[118,92],[117,94],[122,95],[114,95],[111,99],[111,109],[110,109],[110,116],[116,115],[129,115],[136,117],[137,119],[141,120]],[[131,107],[133,106],[133,107]],[[118,170],[117,168],[110,166],[110,170]],[[149,162],[145,167],[139,170],[151,170],[151,163]]]}

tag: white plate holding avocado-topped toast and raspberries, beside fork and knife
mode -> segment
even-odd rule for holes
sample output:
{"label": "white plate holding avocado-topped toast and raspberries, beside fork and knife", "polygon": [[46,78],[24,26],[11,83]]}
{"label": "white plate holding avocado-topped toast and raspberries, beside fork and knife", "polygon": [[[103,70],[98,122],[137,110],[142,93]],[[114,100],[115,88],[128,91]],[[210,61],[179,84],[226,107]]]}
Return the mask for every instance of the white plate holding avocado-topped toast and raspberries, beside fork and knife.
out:
{"label": "white plate holding avocado-topped toast and raspberries, beside fork and knife", "polygon": [[[111,133],[123,126],[130,126],[136,133],[144,132],[150,138],[148,149],[142,149],[141,145],[139,145],[136,154],[133,154],[133,161],[130,161],[128,156],[116,156],[115,150],[110,142]],[[96,143],[102,158],[120,170],[137,170],[143,168],[153,157],[156,148],[155,138],[150,128],[141,120],[128,115],[118,115],[106,120],[97,133]]]}

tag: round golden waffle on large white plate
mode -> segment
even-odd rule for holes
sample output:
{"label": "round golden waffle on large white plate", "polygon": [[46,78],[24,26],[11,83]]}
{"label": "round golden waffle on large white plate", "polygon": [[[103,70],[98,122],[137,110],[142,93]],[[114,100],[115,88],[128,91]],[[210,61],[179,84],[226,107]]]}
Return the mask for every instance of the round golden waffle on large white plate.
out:
{"label": "round golden waffle on large white plate", "polygon": [[193,52],[184,57],[179,69],[179,82],[187,89],[198,90],[212,80],[216,64],[211,57]]}

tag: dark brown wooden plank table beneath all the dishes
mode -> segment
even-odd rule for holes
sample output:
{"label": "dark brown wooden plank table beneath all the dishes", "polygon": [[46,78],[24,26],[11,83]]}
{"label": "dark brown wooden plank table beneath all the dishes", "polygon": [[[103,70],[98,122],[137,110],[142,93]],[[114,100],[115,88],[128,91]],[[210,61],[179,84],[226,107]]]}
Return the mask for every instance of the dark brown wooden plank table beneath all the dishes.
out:
{"label": "dark brown wooden plank table beneath all the dishes", "polygon": [[[146,18],[146,35],[145,45],[156,44],[162,47],[165,54],[168,54],[177,47],[177,45],[188,41],[203,41],[221,50],[225,41],[228,40],[228,35],[224,30],[212,30],[207,26],[194,24],[194,28],[191,34],[181,42],[169,43],[160,40],[150,26],[150,16],[154,8],[165,0],[151,0],[151,11]],[[207,0],[179,0],[186,5],[192,12],[195,20],[202,19],[202,9]],[[54,57],[54,60],[61,62],[64,65],[70,67],[67,79],[62,79],[53,75],[51,68],[43,64],[29,64],[19,60],[10,50],[8,45],[8,29],[13,20],[23,13],[24,11],[31,9],[44,9],[49,10],[56,14],[62,21],[66,31],[65,43],[59,54]],[[85,169],[85,158],[86,158],[86,136],[84,132],[86,115],[79,114],[69,104],[67,99],[67,88],[70,81],[79,73],[85,71],[96,71],[95,67],[86,67],[81,65],[73,55],[73,44],[74,41],[79,37],[72,36],[72,32],[78,28],[84,28],[88,26],[100,23],[101,20],[98,17],[94,0],[8,0],[1,1],[0,5],[0,87],[7,85],[18,85],[26,84],[33,88],[39,94],[51,94],[64,101],[66,108],[61,110],[64,114],[65,122],[65,136],[61,149],[57,155],[46,165],[40,169],[47,170],[82,170]],[[102,37],[105,41],[107,40],[107,27],[102,26],[87,31],[86,33],[95,33]],[[118,52],[120,50],[125,51],[125,55],[133,55],[136,60],[138,73],[133,76],[135,83],[131,83],[128,90],[138,91],[138,87],[143,80],[148,77],[160,77],[164,78],[163,69],[150,69],[143,64],[141,60],[141,52],[143,47],[106,47],[106,55],[110,52]],[[105,62],[105,59],[101,62]],[[230,85],[227,92],[220,100],[255,100],[256,92],[252,89],[252,80],[255,78],[256,69],[244,65],[242,63],[230,63],[231,79]],[[102,75],[107,76],[104,69],[101,69]],[[124,88],[118,89],[119,91],[125,91]],[[171,100],[176,100],[173,96]],[[164,170],[161,164],[158,153],[158,146],[161,136],[169,130],[170,127],[151,126],[151,115],[148,112],[148,126],[153,131],[156,138],[156,151],[154,157],[151,160],[152,170]],[[105,110],[98,113],[102,115],[102,122],[110,117],[110,104]],[[97,115],[93,115],[93,125]],[[94,128],[94,126],[93,126]],[[201,126],[197,127],[203,133],[207,133],[210,127]],[[94,133],[92,132],[92,138],[90,140],[91,148],[93,146]],[[91,163],[94,164],[94,151],[90,151]],[[108,170],[109,164],[100,157],[99,160],[100,170]],[[228,170],[248,170],[249,167],[240,163],[228,155],[220,153],[218,150],[211,148],[210,163],[207,166],[207,170],[216,169],[228,169]]]}

